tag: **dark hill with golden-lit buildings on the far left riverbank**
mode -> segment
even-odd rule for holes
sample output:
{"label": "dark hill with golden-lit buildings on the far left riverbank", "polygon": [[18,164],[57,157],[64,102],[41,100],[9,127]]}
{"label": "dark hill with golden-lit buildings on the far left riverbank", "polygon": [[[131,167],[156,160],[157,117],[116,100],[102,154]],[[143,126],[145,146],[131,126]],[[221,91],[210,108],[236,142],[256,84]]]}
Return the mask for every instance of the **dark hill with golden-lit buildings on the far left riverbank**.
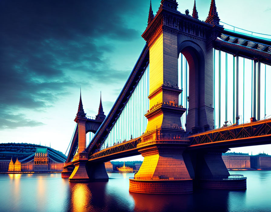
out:
{"label": "dark hill with golden-lit buildings on the far left riverbank", "polygon": [[50,147],[27,143],[0,144],[0,172],[58,172],[67,156]]}

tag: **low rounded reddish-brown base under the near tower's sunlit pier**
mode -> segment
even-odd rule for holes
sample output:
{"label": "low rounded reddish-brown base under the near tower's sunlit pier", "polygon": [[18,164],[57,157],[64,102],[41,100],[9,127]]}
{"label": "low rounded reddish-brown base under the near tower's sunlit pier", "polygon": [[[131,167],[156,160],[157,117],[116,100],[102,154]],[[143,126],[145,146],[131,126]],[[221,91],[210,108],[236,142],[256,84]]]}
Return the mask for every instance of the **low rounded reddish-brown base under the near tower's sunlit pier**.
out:
{"label": "low rounded reddish-brown base under the near tower's sunlit pier", "polygon": [[129,179],[129,192],[142,194],[191,194],[192,179],[140,180]]}

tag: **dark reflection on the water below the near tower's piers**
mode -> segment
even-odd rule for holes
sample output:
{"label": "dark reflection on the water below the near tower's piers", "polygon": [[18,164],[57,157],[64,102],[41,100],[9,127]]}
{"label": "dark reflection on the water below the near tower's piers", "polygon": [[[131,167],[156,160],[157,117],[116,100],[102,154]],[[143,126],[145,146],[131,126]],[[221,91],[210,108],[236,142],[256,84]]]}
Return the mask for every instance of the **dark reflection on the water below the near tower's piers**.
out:
{"label": "dark reflection on the water below the near tower's piers", "polygon": [[130,195],[134,198],[136,212],[230,211],[232,195],[236,195],[238,202],[242,202],[245,201],[246,192],[196,190],[190,195]]}

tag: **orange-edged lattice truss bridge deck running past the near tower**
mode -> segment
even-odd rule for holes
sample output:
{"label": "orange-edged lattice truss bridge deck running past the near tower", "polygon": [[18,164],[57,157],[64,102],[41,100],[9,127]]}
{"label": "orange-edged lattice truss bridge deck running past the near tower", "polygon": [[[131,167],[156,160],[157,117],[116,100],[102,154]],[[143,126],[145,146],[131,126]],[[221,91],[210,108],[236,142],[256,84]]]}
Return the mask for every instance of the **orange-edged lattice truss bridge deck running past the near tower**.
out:
{"label": "orange-edged lattice truss bridge deck running past the near tower", "polygon": [[[152,133],[152,132],[150,132]],[[155,132],[153,132],[155,133]],[[120,144],[105,148],[89,156],[89,161],[110,161],[122,157],[139,155],[139,144],[145,135]],[[164,141],[167,139],[153,139]],[[234,148],[241,146],[263,145],[271,143],[271,119],[260,120],[240,125],[231,125],[219,129],[198,133],[187,138],[168,139],[175,142],[189,140],[188,150],[203,148]]]}

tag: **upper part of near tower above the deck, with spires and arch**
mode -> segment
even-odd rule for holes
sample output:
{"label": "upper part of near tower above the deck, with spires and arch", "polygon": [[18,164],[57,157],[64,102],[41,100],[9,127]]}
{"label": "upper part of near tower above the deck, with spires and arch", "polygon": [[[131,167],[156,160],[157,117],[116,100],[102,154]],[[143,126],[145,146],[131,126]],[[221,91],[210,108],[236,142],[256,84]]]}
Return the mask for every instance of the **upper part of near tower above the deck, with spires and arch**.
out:
{"label": "upper part of near tower above the deck, with spires and arch", "polygon": [[[148,26],[142,37],[150,51],[150,108],[162,102],[178,102],[178,56],[189,64],[189,108],[187,132],[213,129],[213,45],[223,29],[219,25],[215,1],[212,0],[205,22],[198,20],[194,3],[193,16],[177,11],[175,0],[162,0],[155,15],[150,8]],[[181,114],[175,114],[180,116]],[[149,119],[147,131],[157,125],[181,127],[172,113],[156,114]],[[160,116],[160,117],[159,117]],[[162,116],[162,117],[161,117]],[[167,120],[171,120],[171,123]],[[174,120],[172,122],[172,120]],[[152,124],[154,123],[155,124]],[[173,124],[173,125],[172,125]]]}

